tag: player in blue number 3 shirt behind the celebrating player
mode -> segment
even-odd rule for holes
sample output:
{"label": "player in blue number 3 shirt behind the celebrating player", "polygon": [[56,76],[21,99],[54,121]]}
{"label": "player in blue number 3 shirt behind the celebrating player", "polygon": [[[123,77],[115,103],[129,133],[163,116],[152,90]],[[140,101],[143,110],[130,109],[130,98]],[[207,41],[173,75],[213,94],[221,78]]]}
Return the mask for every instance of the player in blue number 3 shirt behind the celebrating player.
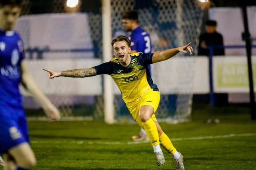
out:
{"label": "player in blue number 3 shirt behind the celebrating player", "polygon": [[[152,45],[150,35],[140,27],[138,13],[136,11],[127,11],[122,15],[124,30],[131,32],[129,39],[131,41],[131,53],[142,52],[151,53]],[[150,64],[148,70],[151,74]],[[147,134],[143,128],[140,129],[139,135],[132,136],[134,141],[148,140]]]}

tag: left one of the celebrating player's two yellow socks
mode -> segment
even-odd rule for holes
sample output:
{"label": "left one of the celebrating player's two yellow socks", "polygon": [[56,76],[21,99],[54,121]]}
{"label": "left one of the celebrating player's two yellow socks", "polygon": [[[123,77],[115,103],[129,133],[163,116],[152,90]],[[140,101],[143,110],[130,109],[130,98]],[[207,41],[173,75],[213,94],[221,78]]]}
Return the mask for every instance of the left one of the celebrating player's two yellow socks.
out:
{"label": "left one of the celebrating player's two yellow socks", "polygon": [[158,136],[158,131],[156,128],[156,124],[152,119],[149,119],[146,122],[141,122],[144,130],[146,131],[146,134],[148,136],[148,139],[151,141],[151,144],[153,146],[159,145],[159,136]]}

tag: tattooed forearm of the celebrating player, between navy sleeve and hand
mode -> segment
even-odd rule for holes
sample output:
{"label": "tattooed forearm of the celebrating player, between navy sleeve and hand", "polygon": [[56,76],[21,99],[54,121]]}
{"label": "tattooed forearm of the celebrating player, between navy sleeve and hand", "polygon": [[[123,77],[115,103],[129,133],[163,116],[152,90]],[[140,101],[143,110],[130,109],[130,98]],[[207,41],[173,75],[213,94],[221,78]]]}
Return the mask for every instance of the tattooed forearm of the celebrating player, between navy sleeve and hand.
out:
{"label": "tattooed forearm of the celebrating player, between navy sleeve and hand", "polygon": [[98,74],[96,73],[96,70],[94,67],[67,70],[67,71],[61,72],[61,76],[65,76],[65,77],[90,77],[90,76],[96,76],[96,75]]}

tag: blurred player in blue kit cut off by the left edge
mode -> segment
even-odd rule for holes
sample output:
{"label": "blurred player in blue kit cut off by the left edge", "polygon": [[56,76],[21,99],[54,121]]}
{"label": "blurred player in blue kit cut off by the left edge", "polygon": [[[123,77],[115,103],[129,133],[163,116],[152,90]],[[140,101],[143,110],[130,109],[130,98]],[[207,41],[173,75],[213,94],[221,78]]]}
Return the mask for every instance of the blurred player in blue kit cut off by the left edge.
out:
{"label": "blurred player in blue kit cut off by the left edge", "polygon": [[22,39],[13,31],[21,8],[22,0],[0,1],[0,155],[4,170],[31,170],[36,164],[19,84],[41,104],[49,119],[60,119],[58,109],[26,68]]}

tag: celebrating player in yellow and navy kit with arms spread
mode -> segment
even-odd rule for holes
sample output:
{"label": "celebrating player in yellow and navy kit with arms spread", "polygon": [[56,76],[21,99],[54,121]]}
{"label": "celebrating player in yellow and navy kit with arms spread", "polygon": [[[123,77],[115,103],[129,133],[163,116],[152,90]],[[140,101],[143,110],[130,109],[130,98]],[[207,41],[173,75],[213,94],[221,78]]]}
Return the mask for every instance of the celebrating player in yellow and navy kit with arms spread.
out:
{"label": "celebrating player in yellow and navy kit with arms spread", "polygon": [[109,74],[122,92],[122,98],[132,117],[140,127],[145,129],[153,146],[157,165],[160,166],[165,163],[164,154],[160,148],[161,144],[176,160],[176,169],[184,169],[182,154],[174,148],[169,137],[162,131],[154,114],[160,102],[160,92],[149,74],[148,64],[165,61],[179,52],[187,53],[186,49],[192,55],[191,43],[151,54],[131,53],[130,40],[122,35],[113,39],[111,44],[115,58],[107,63],[92,68],[62,72],[45,68],[44,70],[48,72],[49,78]]}

